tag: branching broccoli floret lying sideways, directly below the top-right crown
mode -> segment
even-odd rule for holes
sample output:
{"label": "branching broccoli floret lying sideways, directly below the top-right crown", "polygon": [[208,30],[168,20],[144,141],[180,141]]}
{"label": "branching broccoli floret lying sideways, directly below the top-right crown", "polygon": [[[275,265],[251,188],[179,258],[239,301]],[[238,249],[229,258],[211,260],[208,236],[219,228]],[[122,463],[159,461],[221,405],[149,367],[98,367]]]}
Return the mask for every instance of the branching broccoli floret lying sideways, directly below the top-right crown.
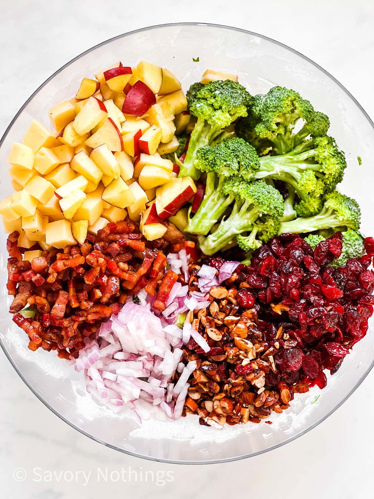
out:
{"label": "branching broccoli floret lying sideways, directly below the top-right crown", "polygon": [[347,167],[344,154],[328,136],[311,139],[281,156],[264,156],[260,165],[256,178],[282,180],[298,195],[314,196],[333,192]]}

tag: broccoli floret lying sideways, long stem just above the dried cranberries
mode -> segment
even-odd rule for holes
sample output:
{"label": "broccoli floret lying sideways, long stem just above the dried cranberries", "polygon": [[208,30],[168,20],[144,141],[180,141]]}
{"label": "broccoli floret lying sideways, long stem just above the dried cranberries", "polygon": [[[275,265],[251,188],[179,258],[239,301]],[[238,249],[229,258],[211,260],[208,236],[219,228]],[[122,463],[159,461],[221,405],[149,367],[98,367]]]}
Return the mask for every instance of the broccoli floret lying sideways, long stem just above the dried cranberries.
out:
{"label": "broccoli floret lying sideways, long stem just above the dried cranberries", "polygon": [[279,234],[308,233],[336,227],[359,230],[360,216],[361,211],[357,201],[335,191],[326,194],[321,213],[314,217],[300,217],[290,222],[282,222]]}

